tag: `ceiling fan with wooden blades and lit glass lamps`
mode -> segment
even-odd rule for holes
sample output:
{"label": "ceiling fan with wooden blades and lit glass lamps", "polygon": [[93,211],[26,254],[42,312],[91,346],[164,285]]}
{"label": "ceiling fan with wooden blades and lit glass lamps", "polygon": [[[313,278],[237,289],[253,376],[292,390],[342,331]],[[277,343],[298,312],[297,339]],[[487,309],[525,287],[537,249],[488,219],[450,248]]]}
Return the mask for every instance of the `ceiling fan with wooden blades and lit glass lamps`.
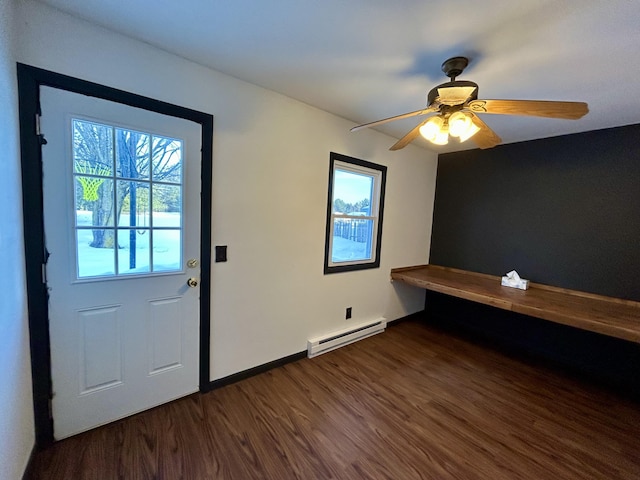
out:
{"label": "ceiling fan with wooden blades and lit glass lamps", "polygon": [[589,112],[584,102],[556,102],[548,100],[478,100],[478,85],[468,80],[456,80],[469,64],[466,57],[453,57],[442,64],[442,71],[449,81],[433,88],[427,95],[427,107],[395,117],[358,125],[352,132],[375,127],[394,120],[437,113],[416,125],[389,150],[400,150],[418,135],[434,143],[446,145],[449,136],[464,142],[473,137],[480,148],[491,148],[502,139],[484,123],[478,113],[498,115],[528,115],[534,117],[577,120]]}

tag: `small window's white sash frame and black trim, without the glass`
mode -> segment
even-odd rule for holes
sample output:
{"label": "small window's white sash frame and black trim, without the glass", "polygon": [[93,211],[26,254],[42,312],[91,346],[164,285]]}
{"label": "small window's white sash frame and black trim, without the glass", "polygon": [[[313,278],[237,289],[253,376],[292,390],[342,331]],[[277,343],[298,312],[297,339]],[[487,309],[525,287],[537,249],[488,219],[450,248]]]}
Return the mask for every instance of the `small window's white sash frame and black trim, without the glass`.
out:
{"label": "small window's white sash frame and black trim, without the glass", "polygon": [[[370,215],[350,215],[341,213],[336,215],[333,208],[333,190],[335,185],[335,172],[343,171],[357,175],[366,175],[373,179],[371,192]],[[380,266],[380,250],[382,239],[382,217],[384,210],[384,190],[386,183],[387,167],[375,163],[367,162],[346,155],[332,152],[330,155],[329,168],[329,195],[327,202],[327,226],[325,241],[324,273],[338,273],[353,270],[363,270],[368,268],[378,268]],[[333,233],[335,220],[354,219],[372,220],[371,228],[371,258],[334,262],[333,255]]]}

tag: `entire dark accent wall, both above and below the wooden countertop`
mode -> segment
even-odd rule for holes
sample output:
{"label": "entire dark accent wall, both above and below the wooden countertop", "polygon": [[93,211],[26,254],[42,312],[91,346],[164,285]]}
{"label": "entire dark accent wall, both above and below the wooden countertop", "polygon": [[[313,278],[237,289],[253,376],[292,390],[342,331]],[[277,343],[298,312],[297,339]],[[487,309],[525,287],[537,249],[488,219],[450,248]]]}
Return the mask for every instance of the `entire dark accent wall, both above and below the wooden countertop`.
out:
{"label": "entire dark accent wall, both above and below the wooden countertop", "polygon": [[[640,301],[640,125],[440,155],[429,261]],[[431,292],[426,318],[640,400],[640,344]]]}

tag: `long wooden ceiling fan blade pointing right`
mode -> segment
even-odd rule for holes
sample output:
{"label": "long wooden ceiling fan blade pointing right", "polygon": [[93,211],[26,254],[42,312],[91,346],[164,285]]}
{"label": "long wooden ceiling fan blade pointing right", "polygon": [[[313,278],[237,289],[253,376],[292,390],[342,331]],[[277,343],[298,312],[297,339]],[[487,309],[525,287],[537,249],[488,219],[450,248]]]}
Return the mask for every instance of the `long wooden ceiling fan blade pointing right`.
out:
{"label": "long wooden ceiling fan blade pointing right", "polygon": [[498,115],[530,115],[533,117],[577,120],[589,112],[584,102],[555,102],[550,100],[472,100],[466,106],[473,113]]}

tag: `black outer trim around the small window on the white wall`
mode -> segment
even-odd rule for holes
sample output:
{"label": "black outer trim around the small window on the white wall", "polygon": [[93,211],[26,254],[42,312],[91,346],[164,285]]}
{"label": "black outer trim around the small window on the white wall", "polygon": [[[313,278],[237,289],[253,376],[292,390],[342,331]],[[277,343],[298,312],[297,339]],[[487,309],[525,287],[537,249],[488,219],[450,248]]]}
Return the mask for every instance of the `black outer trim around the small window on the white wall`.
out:
{"label": "black outer trim around the small window on the white wall", "polygon": [[[369,168],[371,170],[378,170],[381,173],[380,176],[380,200],[378,205],[378,231],[376,234],[376,249],[375,259],[373,262],[360,263],[355,265],[329,265],[329,258],[331,252],[329,251],[330,235],[331,235],[331,213],[333,209],[333,171],[335,162],[344,162],[356,165],[359,167]],[[324,241],[324,273],[340,273],[340,272],[352,272],[356,270],[368,270],[370,268],[380,268],[380,251],[382,248],[382,219],[384,213],[384,196],[385,186],[387,182],[387,167],[384,165],[378,165],[377,163],[368,162],[366,160],[360,160],[359,158],[349,157],[340,153],[331,152],[329,155],[329,194],[327,197],[327,223],[325,225],[325,241]]]}

